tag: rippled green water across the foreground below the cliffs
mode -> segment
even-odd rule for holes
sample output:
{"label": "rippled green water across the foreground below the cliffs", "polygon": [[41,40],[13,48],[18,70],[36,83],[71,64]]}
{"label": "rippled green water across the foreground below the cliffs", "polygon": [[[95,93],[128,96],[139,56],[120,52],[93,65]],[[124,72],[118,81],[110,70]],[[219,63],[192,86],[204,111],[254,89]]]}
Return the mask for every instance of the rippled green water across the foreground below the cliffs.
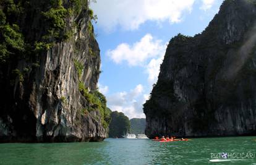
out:
{"label": "rippled green water across the foreground below the cliffs", "polygon": [[106,139],[99,143],[4,143],[0,164],[256,164],[256,158],[211,163],[211,153],[255,153],[256,137],[189,142]]}

